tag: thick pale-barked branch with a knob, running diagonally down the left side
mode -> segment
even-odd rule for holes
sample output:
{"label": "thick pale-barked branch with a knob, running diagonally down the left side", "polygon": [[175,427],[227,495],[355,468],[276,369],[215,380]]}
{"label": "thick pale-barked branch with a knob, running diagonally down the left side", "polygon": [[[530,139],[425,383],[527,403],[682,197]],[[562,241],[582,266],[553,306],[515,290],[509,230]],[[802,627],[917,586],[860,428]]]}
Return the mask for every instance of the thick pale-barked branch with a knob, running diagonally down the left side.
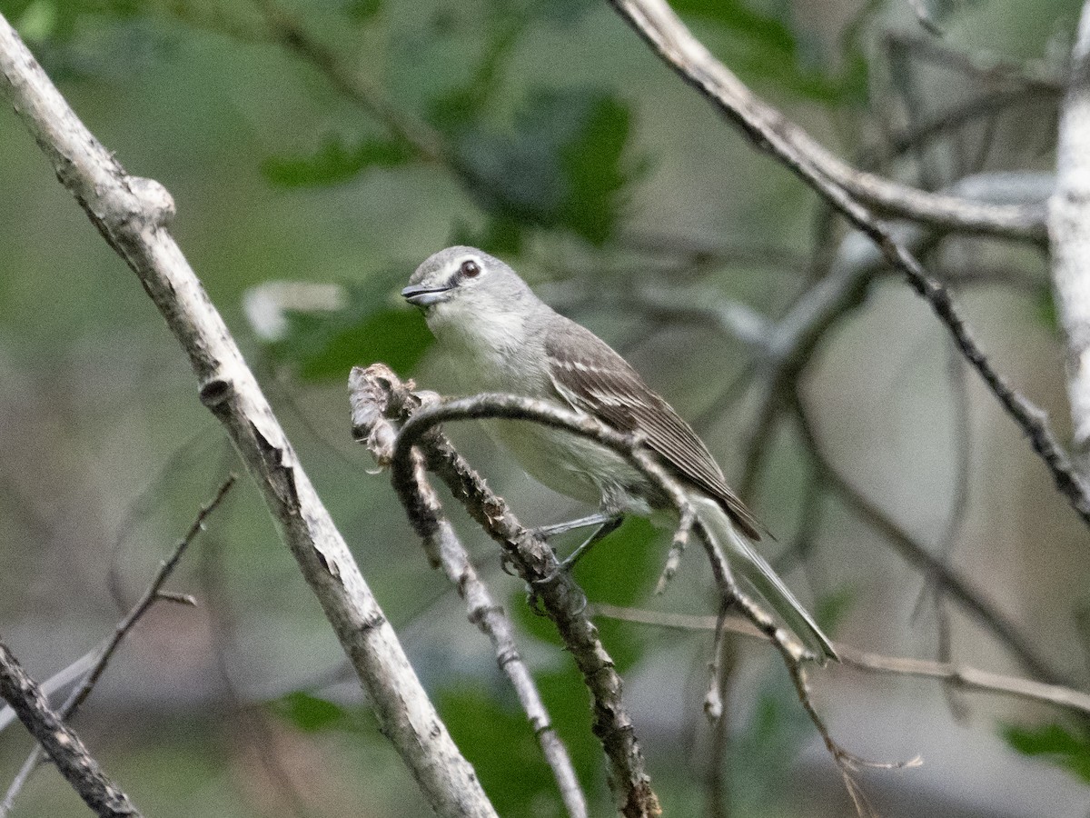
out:
{"label": "thick pale-barked branch with a knob, running diagonally down the left side", "polygon": [[0,16],[0,93],[58,179],[145,290],[189,356],[202,402],[220,420],[263,493],[366,688],[384,734],[440,816],[495,816],[451,741],[393,628],[352,558],[253,373],[168,231],[166,189],[129,176],[83,125],[19,35]]}

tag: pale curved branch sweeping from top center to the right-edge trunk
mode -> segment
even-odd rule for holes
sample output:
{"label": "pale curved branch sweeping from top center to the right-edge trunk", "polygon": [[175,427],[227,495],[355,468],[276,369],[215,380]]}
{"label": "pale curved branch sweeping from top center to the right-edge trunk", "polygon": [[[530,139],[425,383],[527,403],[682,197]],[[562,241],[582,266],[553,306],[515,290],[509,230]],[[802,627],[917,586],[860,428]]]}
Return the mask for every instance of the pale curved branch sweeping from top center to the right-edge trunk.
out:
{"label": "pale curved branch sweeping from top center to the right-edge trunk", "polygon": [[[867,173],[834,156],[806,131],[758,98],[692,36],[665,0],[610,0],[614,8],[687,83],[703,94],[761,149],[774,154],[819,193],[827,185],[882,213],[934,225],[944,230],[1008,239],[1045,238],[1040,206],[988,205],[928,193]],[[834,202],[838,209],[839,203]],[[850,216],[849,216],[850,218]]]}

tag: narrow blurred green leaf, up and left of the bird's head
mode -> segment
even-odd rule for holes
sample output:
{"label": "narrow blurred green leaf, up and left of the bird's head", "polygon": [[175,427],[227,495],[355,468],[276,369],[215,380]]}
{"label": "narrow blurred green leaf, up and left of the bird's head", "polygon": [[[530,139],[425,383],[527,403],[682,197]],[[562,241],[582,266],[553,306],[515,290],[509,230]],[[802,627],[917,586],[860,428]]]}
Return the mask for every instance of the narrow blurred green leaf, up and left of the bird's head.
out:
{"label": "narrow blurred green leaf, up and left of the bird's head", "polygon": [[407,165],[415,156],[403,140],[363,140],[346,145],[340,137],[329,137],[310,156],[269,157],[262,172],[278,188],[314,188],[347,182],[371,168]]}

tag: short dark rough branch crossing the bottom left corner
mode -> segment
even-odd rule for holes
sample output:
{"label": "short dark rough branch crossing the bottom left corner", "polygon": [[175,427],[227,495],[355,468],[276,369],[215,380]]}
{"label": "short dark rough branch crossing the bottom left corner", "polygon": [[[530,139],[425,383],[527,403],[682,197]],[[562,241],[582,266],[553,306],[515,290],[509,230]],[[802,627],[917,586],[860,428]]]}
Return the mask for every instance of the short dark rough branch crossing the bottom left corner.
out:
{"label": "short dark rough branch crossing the bottom left corner", "polygon": [[106,777],[80,736],[49,708],[38,685],[3,643],[0,643],[0,697],[12,706],[88,807],[102,818],[140,818],[129,796]]}

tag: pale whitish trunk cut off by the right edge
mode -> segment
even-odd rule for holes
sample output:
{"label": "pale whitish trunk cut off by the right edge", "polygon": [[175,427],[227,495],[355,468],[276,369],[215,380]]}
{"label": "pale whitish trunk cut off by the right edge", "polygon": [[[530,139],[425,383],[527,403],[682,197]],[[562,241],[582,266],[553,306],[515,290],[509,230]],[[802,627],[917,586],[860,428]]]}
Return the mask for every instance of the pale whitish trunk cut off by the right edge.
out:
{"label": "pale whitish trunk cut off by the right edge", "polygon": [[1067,338],[1071,455],[1086,480],[1090,478],[1090,3],[1079,21],[1059,118],[1049,233],[1056,304]]}

